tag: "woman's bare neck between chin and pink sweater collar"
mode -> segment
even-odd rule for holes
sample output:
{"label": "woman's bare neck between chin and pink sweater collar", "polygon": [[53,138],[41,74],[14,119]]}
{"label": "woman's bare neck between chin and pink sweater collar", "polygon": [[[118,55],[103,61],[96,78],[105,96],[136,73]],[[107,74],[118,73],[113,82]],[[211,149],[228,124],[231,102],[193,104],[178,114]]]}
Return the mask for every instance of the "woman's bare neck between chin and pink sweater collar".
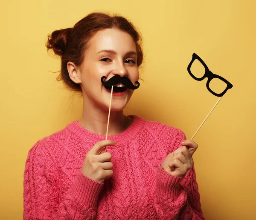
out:
{"label": "woman's bare neck between chin and pink sweater collar", "polygon": [[[108,136],[119,134],[125,131],[131,123],[132,118],[124,115],[122,111],[111,111]],[[95,134],[106,135],[108,124],[108,111],[100,108],[99,106],[93,106],[92,103],[88,103],[88,99],[83,99],[83,113],[79,124]]]}

